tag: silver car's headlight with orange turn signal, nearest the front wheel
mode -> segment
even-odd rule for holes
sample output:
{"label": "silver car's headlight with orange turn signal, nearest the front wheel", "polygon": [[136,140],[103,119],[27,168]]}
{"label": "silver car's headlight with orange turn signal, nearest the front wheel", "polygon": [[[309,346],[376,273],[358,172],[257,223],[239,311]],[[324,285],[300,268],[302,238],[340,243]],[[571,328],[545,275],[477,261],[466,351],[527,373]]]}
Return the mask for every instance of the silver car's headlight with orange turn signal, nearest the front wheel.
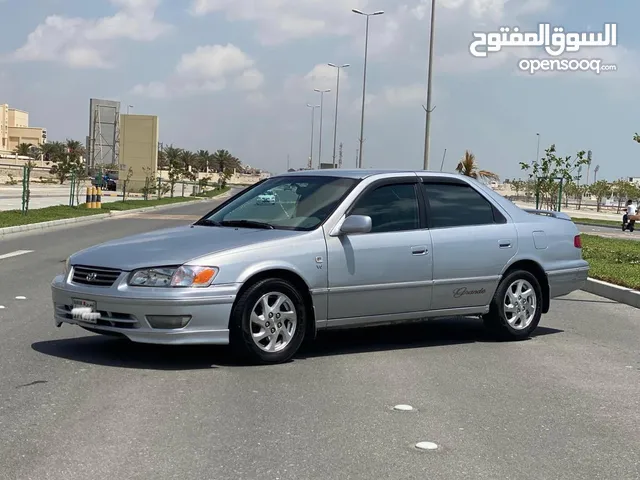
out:
{"label": "silver car's headlight with orange turn signal, nearest the front wheel", "polygon": [[129,279],[132,287],[208,287],[216,278],[218,269],[183,265],[178,268],[157,267],[133,272]]}

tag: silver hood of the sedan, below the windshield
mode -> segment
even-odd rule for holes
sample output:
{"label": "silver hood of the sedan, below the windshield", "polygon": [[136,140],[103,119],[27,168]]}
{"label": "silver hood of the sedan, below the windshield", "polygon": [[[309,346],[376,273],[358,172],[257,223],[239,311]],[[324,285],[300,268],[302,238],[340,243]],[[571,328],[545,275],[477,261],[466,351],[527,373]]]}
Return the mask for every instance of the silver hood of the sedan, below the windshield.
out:
{"label": "silver hood of the sedan, below the windshield", "polygon": [[112,240],[71,256],[72,265],[138,268],[181,265],[194,258],[305,232],[186,225]]}

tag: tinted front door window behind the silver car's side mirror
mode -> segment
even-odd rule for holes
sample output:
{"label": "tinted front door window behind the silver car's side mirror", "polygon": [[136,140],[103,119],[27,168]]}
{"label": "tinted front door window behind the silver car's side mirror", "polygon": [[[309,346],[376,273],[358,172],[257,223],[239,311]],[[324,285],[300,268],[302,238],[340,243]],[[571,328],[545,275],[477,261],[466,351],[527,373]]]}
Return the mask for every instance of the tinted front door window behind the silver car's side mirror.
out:
{"label": "tinted front door window behind the silver car's side mirror", "polygon": [[371,217],[372,233],[420,228],[418,198],[413,184],[378,187],[360,197],[351,215]]}

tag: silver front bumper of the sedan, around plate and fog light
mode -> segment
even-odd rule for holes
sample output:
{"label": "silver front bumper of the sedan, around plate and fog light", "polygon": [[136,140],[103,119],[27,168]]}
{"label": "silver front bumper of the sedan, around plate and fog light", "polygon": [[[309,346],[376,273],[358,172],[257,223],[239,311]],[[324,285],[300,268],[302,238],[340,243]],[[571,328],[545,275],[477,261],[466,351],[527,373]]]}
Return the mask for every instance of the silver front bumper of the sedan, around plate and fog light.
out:
{"label": "silver front bumper of the sedan, around plate and fog light", "polygon": [[[207,289],[87,287],[68,282],[60,275],[51,284],[54,322],[78,325],[106,335],[124,336],[139,343],[195,345],[229,343],[229,318],[237,284]],[[74,318],[74,300],[95,302],[100,318],[94,322]],[[182,328],[154,328],[150,318],[188,317]]]}

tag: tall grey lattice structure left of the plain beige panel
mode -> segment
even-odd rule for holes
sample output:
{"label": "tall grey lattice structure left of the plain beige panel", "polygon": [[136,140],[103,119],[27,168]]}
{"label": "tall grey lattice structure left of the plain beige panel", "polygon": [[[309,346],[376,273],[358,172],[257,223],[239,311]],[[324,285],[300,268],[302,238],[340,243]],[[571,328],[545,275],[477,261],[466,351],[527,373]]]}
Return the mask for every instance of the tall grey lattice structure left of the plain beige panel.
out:
{"label": "tall grey lattice structure left of the plain beige panel", "polygon": [[90,99],[87,173],[119,164],[119,137],[120,102]]}

